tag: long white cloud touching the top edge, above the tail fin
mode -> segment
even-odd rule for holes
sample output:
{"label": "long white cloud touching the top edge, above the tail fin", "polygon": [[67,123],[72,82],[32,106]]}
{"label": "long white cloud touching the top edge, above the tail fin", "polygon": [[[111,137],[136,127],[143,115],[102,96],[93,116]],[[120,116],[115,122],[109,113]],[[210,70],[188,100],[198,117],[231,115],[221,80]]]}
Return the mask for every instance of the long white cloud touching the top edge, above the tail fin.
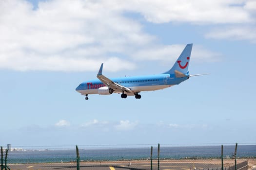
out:
{"label": "long white cloud touching the top edge, above the tail fin", "polygon": [[247,23],[253,20],[246,0],[129,0],[126,8],[154,23]]}

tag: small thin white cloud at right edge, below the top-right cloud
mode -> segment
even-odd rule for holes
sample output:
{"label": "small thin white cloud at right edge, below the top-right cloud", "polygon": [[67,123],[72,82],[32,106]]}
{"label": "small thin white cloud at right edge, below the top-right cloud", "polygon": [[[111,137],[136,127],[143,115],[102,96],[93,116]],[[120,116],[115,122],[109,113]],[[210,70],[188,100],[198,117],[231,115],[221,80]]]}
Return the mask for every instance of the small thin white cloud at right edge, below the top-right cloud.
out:
{"label": "small thin white cloud at right edge, below the top-right cloud", "polygon": [[256,26],[232,26],[217,28],[206,34],[207,38],[249,40],[256,43]]}

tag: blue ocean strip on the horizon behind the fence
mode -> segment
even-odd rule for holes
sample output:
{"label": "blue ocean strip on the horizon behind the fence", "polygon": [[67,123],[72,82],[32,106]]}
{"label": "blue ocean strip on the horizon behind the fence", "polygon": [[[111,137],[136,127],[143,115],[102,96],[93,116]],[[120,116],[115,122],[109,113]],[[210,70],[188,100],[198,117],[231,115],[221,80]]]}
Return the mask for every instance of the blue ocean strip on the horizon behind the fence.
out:
{"label": "blue ocean strip on the horizon behind the fence", "polygon": [[[150,147],[141,148],[101,148],[79,149],[80,160],[104,161],[104,160],[135,160],[149,159]],[[235,152],[234,146],[224,146],[223,156],[232,158]],[[238,145],[237,157],[256,157],[256,145]],[[158,148],[153,148],[153,158],[158,156]],[[160,147],[161,159],[185,159],[185,158],[220,158],[221,146],[182,146]],[[7,163],[47,163],[47,162],[72,162],[76,161],[76,149],[49,149],[12,151],[8,153]]]}

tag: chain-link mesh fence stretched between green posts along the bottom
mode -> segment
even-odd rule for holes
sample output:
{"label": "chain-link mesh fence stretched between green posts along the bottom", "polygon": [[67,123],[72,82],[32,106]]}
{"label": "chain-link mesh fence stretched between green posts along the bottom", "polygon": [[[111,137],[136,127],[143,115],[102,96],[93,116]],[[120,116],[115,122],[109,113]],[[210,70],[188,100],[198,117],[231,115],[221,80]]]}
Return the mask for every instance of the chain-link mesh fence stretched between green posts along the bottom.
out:
{"label": "chain-link mesh fence stretched between green posts along the bottom", "polygon": [[[3,162],[5,153],[3,153]],[[159,159],[158,159],[159,158]],[[30,147],[8,152],[11,170],[252,170],[256,168],[256,145],[173,146],[81,146],[79,167],[75,146]],[[236,158],[236,159],[235,159]],[[236,162],[236,166],[235,166]],[[1,167],[1,170],[2,169]]]}

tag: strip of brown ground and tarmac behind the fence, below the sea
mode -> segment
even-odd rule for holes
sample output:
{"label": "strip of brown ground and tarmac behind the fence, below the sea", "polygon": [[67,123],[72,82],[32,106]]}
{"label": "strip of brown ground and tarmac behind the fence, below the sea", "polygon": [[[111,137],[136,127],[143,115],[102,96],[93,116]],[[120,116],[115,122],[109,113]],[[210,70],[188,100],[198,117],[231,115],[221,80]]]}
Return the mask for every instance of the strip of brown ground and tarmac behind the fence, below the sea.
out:
{"label": "strip of brown ground and tarmac behind the fence, below the sea", "polygon": [[[255,159],[237,159],[238,164],[248,161],[243,170],[252,170],[256,165]],[[76,162],[68,163],[28,163],[10,164],[11,170],[76,170]],[[234,160],[224,160],[224,170],[235,170]],[[158,169],[158,161],[153,160],[153,170]],[[80,162],[80,170],[151,170],[150,160],[123,160],[123,161],[83,161]],[[160,170],[221,170],[219,159],[197,159],[197,160],[162,160],[159,161]],[[237,170],[241,170],[238,168]]]}

